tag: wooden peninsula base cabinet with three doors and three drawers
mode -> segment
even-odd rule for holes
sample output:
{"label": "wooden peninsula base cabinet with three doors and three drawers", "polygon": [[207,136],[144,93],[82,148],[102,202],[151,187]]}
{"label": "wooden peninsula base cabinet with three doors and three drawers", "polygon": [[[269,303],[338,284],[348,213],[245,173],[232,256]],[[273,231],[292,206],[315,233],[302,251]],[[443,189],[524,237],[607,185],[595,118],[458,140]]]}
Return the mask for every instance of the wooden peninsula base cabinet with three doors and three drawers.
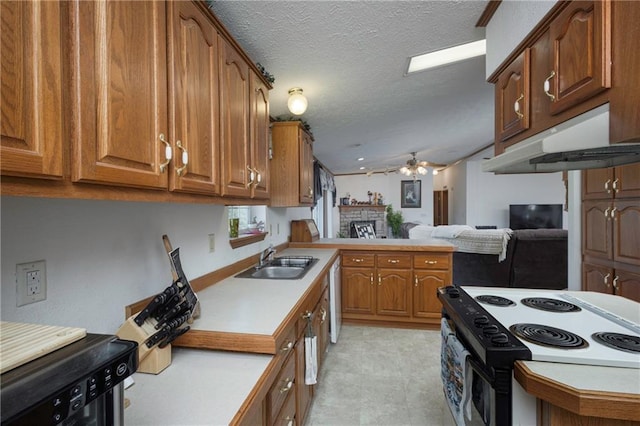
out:
{"label": "wooden peninsula base cabinet with three doors and three drawers", "polygon": [[451,264],[447,253],[343,252],[343,319],[438,324],[436,289],[451,284]]}

